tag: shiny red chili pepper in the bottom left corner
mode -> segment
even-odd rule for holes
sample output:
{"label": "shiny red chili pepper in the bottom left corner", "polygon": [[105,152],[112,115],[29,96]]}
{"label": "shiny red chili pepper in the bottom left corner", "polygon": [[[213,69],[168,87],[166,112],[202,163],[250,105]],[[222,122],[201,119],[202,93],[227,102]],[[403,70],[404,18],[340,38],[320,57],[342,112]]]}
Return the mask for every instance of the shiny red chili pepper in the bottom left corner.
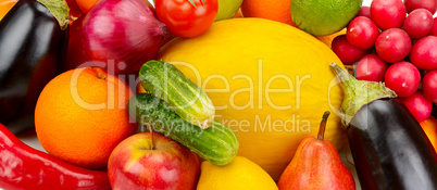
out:
{"label": "shiny red chili pepper in the bottom left corner", "polygon": [[65,163],[23,143],[0,124],[0,189],[111,189],[107,172]]}

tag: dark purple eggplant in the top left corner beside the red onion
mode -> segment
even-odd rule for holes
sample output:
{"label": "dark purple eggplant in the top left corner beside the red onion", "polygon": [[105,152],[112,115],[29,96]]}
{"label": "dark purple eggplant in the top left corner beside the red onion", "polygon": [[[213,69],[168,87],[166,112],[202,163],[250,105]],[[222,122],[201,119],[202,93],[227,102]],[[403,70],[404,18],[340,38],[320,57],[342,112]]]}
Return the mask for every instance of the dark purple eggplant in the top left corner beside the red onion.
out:
{"label": "dark purple eggplant in the top left corner beside the red onion", "polygon": [[20,0],[0,21],[0,123],[14,134],[34,127],[38,96],[66,53],[65,1],[39,1]]}

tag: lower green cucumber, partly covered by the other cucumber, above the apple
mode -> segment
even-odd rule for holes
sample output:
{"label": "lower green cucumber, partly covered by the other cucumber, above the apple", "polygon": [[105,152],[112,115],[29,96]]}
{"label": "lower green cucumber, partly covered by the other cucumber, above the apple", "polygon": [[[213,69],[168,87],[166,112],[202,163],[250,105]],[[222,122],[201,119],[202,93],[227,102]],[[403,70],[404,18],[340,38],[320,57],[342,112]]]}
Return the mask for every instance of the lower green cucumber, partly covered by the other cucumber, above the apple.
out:
{"label": "lower green cucumber, partly covered by the other cucumber, above the apple", "polygon": [[179,142],[211,164],[229,164],[238,152],[238,138],[225,125],[213,121],[207,129],[201,129],[166,109],[166,102],[149,93],[130,98],[129,115],[142,126]]}

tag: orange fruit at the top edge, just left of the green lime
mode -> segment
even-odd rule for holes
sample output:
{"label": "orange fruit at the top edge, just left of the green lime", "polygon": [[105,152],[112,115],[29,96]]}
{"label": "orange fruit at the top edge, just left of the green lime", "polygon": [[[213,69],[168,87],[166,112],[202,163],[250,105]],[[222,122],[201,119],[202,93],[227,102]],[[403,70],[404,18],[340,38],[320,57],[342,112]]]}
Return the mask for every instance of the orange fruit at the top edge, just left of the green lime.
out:
{"label": "orange fruit at the top edge, just left of the green lime", "polygon": [[290,0],[244,0],[241,12],[245,17],[262,17],[296,26],[291,20]]}

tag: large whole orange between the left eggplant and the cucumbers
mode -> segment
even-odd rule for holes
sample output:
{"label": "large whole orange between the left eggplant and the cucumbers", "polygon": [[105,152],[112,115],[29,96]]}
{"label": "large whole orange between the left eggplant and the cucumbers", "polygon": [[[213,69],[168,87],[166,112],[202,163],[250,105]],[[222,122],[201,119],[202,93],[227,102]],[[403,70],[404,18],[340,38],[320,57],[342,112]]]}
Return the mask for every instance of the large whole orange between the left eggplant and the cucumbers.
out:
{"label": "large whole orange between the left eggplant and the cucumbers", "polygon": [[45,150],[87,168],[102,168],[112,150],[133,135],[130,88],[102,68],[76,68],[53,78],[35,107],[35,128]]}

